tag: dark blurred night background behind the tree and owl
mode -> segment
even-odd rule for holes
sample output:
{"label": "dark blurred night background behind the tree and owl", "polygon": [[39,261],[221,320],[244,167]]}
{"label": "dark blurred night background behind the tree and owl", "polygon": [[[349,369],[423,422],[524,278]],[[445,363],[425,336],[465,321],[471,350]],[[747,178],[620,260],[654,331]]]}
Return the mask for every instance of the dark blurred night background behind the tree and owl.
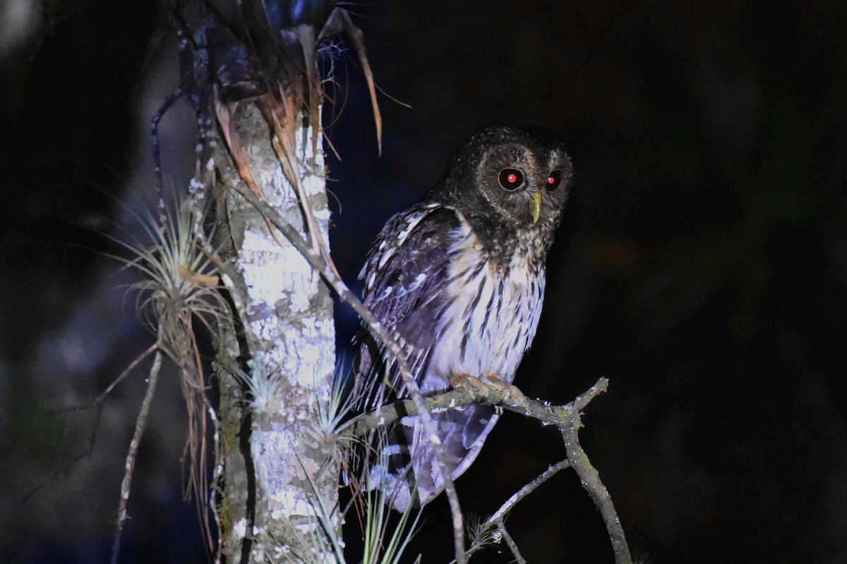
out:
{"label": "dark blurred night background behind the tree and owl", "polygon": [[[43,21],[35,6],[13,41],[19,5],[0,2],[0,561],[102,562],[143,375],[119,386],[93,441],[91,411],[50,410],[91,402],[151,342],[97,232],[148,192],[174,42],[150,3],[105,0],[48,3]],[[360,69],[336,57],[324,122],[342,157],[332,245],[347,280],[474,131],[556,131],[575,185],[518,385],[567,402],[610,379],[581,437],[635,556],[847,561],[847,4],[351,9],[379,86],[412,109],[380,96],[377,156]],[[163,121],[175,186],[191,123],[185,103]],[[355,320],[339,320],[343,344]],[[204,561],[181,501],[179,383],[163,380],[125,562]],[[490,513],[563,456],[555,430],[507,414],[457,482],[462,505]],[[424,513],[424,561],[450,559],[446,511],[440,499]],[[612,561],[569,470],[508,525],[530,562]]]}

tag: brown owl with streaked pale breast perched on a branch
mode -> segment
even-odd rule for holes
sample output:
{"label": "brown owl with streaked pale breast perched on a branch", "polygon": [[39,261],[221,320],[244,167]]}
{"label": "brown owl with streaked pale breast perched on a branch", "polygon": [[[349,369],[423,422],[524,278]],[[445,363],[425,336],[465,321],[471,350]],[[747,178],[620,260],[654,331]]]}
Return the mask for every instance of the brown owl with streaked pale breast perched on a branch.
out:
{"label": "brown owl with streaked pale breast perched on a branch", "polygon": [[[534,129],[485,129],[462,146],[418,204],[382,228],[359,278],[363,302],[407,355],[424,395],[465,376],[511,382],[538,326],[545,260],[570,191],[564,147]],[[363,411],[407,397],[396,359],[366,326],[354,392]],[[432,413],[453,479],[501,413],[491,405]],[[424,505],[444,489],[417,417],[379,434],[360,476],[391,507]]]}

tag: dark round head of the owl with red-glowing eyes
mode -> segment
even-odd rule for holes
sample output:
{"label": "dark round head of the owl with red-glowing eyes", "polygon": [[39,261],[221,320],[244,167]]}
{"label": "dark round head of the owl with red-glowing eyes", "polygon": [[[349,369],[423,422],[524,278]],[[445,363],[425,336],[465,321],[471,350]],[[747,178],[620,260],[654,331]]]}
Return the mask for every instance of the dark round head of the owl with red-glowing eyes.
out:
{"label": "dark round head of the owl with red-glowing eyes", "polygon": [[570,157],[550,134],[497,127],[462,147],[444,187],[465,216],[494,216],[514,229],[549,231],[558,225],[572,178]]}

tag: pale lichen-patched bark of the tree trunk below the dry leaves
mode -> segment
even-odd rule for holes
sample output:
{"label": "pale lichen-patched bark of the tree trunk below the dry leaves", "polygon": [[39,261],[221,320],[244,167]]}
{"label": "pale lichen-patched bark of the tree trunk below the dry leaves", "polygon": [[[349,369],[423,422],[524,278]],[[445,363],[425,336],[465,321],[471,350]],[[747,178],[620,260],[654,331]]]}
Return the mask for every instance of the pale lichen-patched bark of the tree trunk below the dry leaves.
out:
{"label": "pale lichen-patched bark of the tree trunk below the dry leaves", "polygon": [[[246,151],[263,199],[305,233],[296,192],[252,102],[230,107],[235,138]],[[301,118],[302,123],[302,118]],[[296,156],[318,227],[329,240],[321,148],[298,127]],[[317,273],[235,190],[243,183],[230,156],[215,156],[224,280],[243,326],[224,332],[220,348],[224,491],[221,524],[228,561],[335,561],[329,539],[337,514],[339,459],[319,421],[332,387],[332,298]],[[245,350],[246,349],[246,350]],[[249,363],[246,361],[249,359]],[[249,381],[236,370],[249,364]],[[336,535],[337,536],[337,535]]]}

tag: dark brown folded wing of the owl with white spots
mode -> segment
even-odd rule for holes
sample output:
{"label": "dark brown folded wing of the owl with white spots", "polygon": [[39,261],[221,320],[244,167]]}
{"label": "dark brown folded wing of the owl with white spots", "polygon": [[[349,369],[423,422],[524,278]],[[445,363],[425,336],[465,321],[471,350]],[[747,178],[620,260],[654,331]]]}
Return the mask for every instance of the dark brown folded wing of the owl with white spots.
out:
{"label": "dark brown folded wing of the owl with white spots", "polygon": [[[439,323],[450,274],[451,239],[458,227],[461,220],[451,208],[415,205],[385,224],[359,274],[364,304],[407,353],[418,384],[435,345],[433,328]],[[400,370],[394,359],[386,361],[384,347],[369,331],[360,331],[357,339],[357,403],[375,408],[397,397]]]}

